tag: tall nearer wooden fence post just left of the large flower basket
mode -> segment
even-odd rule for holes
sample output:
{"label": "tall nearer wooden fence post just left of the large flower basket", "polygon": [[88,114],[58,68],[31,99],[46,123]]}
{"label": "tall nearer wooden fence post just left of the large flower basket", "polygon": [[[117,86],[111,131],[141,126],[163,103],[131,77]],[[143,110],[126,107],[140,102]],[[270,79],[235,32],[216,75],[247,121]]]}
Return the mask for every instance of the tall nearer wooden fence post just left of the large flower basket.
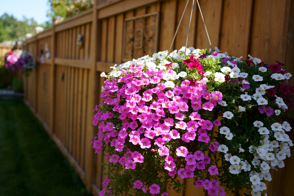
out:
{"label": "tall nearer wooden fence post just left of the large flower basket", "polygon": [[87,105],[87,128],[86,128],[86,189],[91,191],[92,172],[93,172],[93,147],[91,141],[94,136],[94,126],[92,125],[93,109],[95,108],[95,94],[96,94],[96,57],[97,57],[97,0],[94,1],[93,6],[93,19],[91,27],[91,69],[89,72],[89,85],[88,85],[88,105]]}

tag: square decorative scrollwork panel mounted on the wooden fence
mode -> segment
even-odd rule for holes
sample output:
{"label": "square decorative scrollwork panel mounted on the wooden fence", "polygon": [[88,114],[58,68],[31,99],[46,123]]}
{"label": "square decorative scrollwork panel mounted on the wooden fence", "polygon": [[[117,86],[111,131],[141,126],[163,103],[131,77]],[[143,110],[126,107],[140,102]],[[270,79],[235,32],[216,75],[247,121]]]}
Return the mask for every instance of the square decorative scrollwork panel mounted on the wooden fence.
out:
{"label": "square decorative scrollwork panel mounted on the wooden fence", "polygon": [[123,62],[152,55],[158,47],[159,13],[153,12],[124,20]]}

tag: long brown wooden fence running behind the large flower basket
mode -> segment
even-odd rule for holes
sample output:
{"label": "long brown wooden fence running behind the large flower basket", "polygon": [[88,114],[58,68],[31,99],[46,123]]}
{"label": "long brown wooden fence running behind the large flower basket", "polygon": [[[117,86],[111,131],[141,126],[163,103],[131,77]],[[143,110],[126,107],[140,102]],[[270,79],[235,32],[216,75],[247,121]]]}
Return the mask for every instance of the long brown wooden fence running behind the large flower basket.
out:
{"label": "long brown wooden fence running behind the large flower basket", "polygon": [[[285,63],[294,75],[294,0],[200,0],[200,7],[213,47],[244,58],[248,54],[263,61]],[[37,67],[24,81],[25,103],[43,122],[44,128],[64,156],[75,166],[87,191],[94,195],[106,186],[101,182],[102,154],[94,154],[90,142],[97,134],[92,110],[100,103],[101,72],[114,63],[167,50],[186,0],[98,0],[94,9],[53,25],[27,40]],[[185,45],[192,1],[184,14],[172,49]],[[194,5],[188,46],[209,48],[203,22]],[[83,47],[77,46],[82,36]],[[40,51],[48,44],[51,58],[41,63]],[[287,81],[293,85],[293,79]],[[291,98],[291,97],[290,97]],[[292,99],[292,98],[291,98]],[[294,127],[293,122],[291,122]],[[294,139],[290,132],[290,138]],[[273,172],[265,193],[293,195],[294,170]],[[207,195],[186,180],[188,191],[170,195]],[[232,194],[228,194],[232,195]]]}

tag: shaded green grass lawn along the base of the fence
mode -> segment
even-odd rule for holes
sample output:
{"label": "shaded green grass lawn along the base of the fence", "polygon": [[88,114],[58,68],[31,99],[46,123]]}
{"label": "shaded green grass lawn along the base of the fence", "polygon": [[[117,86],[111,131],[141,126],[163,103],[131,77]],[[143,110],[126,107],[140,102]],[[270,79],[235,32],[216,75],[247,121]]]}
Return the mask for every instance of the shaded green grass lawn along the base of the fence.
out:
{"label": "shaded green grass lawn along the base of the fence", "polygon": [[0,196],[91,195],[22,100],[0,100]]}

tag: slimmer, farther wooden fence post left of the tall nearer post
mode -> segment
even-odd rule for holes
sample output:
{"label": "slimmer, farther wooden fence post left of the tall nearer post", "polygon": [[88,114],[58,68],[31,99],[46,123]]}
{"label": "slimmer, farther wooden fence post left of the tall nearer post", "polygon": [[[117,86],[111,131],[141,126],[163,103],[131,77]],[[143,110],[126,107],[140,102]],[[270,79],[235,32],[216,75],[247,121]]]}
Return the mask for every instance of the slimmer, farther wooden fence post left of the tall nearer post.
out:
{"label": "slimmer, farther wooden fence post left of the tall nearer post", "polygon": [[54,130],[55,130],[55,92],[56,92],[56,68],[54,64],[55,58],[55,25],[54,18],[52,20],[52,39],[51,39],[51,92],[50,92],[50,138],[52,139]]}

